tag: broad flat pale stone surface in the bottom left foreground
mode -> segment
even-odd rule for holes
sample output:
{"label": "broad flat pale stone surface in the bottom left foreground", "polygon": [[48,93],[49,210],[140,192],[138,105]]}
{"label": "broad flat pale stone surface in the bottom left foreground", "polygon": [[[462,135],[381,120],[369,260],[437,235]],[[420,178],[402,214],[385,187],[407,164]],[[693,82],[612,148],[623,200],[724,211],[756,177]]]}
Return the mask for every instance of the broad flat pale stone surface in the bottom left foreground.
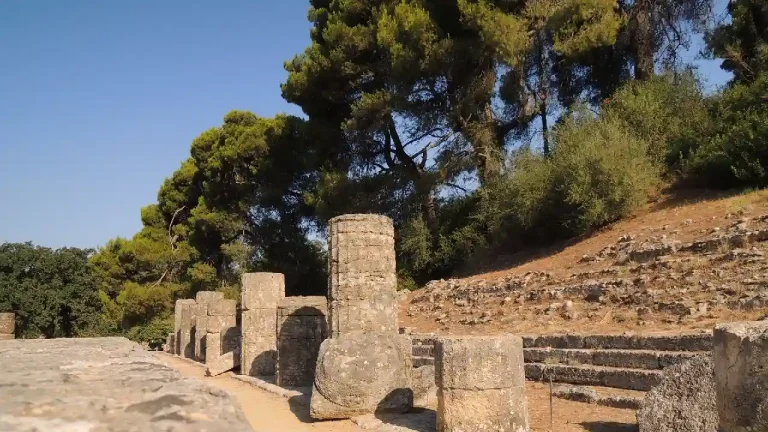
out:
{"label": "broad flat pale stone surface in the bottom left foreground", "polygon": [[232,396],[124,338],[0,344],[3,432],[246,432]]}

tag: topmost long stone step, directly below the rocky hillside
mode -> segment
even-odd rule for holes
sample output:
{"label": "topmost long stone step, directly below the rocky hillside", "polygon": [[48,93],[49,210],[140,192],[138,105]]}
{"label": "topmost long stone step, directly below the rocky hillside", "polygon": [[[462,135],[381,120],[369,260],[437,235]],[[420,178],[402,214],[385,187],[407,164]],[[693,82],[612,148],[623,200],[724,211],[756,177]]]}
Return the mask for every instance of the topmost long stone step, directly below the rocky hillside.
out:
{"label": "topmost long stone step, directly below the rocky hillside", "polygon": [[678,335],[543,335],[523,336],[525,348],[711,351],[712,333]]}

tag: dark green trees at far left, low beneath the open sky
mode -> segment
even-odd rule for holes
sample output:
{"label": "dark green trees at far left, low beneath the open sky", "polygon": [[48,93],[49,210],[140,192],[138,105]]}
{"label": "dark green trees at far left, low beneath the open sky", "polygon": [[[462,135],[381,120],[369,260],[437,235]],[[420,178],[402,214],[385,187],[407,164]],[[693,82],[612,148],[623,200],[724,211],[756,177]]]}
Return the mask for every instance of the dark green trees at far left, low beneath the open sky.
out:
{"label": "dark green trees at far left, low beneath the open sky", "polygon": [[0,245],[0,311],[19,337],[74,337],[97,324],[101,304],[87,249]]}

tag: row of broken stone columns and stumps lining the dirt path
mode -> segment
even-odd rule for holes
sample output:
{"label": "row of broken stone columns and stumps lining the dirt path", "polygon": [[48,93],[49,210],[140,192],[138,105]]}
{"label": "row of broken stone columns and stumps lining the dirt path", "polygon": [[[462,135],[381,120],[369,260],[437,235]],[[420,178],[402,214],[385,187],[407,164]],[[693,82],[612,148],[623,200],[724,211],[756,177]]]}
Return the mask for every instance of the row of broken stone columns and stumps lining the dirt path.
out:
{"label": "row of broken stone columns and stumps lining the dirt path", "polygon": [[[210,375],[240,366],[283,387],[312,387],[316,419],[405,412],[414,395],[437,393],[440,430],[526,430],[520,338],[441,339],[434,366],[413,364],[415,342],[398,327],[389,218],[332,219],[328,269],[327,298],[285,297],[282,274],[244,274],[239,327],[234,301],[220,293],[178,300],[167,349],[205,362]],[[483,385],[472,383],[477,368]],[[483,418],[460,409],[468,403],[488,405]]]}

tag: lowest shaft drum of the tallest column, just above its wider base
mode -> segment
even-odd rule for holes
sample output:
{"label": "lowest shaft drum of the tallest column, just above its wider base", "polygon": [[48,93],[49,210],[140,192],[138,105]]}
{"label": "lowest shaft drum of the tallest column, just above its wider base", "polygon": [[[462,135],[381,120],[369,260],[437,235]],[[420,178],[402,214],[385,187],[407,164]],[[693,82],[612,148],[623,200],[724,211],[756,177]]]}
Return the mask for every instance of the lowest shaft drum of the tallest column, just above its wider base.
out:
{"label": "lowest shaft drum of the tallest column, just above its wider base", "polygon": [[364,331],[397,333],[397,301],[395,297],[376,301],[331,301],[328,305],[331,337]]}

